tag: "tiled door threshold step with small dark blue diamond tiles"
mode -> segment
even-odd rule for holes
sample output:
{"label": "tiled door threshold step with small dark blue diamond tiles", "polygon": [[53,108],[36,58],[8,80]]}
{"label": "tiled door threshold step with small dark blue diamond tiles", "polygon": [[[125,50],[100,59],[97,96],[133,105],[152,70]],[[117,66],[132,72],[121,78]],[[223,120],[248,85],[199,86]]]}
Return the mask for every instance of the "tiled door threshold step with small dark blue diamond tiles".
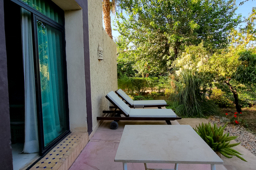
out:
{"label": "tiled door threshold step with small dark blue diamond tiles", "polygon": [[72,132],[30,170],[68,170],[88,142],[87,132]]}

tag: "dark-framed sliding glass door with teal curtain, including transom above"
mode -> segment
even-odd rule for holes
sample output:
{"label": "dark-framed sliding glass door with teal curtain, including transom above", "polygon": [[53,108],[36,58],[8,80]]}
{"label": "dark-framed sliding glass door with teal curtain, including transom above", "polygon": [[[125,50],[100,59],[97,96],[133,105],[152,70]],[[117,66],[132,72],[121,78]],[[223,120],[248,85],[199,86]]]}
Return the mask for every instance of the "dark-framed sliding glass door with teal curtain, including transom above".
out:
{"label": "dark-framed sliding glass door with teal curtain, including transom above", "polygon": [[64,11],[51,0],[10,1],[29,16],[30,29],[26,32],[31,41],[30,44],[24,44],[27,43],[24,41],[23,46],[31,47],[29,52],[34,69],[30,69],[29,74],[34,76],[32,80],[35,82],[37,144],[40,155],[44,155],[70,133]]}

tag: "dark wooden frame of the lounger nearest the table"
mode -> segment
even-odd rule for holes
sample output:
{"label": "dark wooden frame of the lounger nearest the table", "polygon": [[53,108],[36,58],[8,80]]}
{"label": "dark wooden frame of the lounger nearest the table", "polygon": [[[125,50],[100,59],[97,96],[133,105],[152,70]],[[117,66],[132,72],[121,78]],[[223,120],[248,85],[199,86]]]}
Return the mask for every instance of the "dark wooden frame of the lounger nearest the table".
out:
{"label": "dark wooden frame of the lounger nearest the table", "polygon": [[[115,106],[115,110],[103,110],[103,115],[100,117],[97,117],[97,120],[113,120],[113,121],[119,121],[119,120],[145,120],[145,121],[158,121],[163,120],[166,121],[167,125],[171,125],[170,121],[173,120],[179,120],[181,117],[129,117],[129,115],[126,115],[108,96],[106,98]],[[156,107],[156,106],[155,106]],[[118,110],[117,110],[118,109]],[[125,117],[121,117],[121,114],[123,114]]]}

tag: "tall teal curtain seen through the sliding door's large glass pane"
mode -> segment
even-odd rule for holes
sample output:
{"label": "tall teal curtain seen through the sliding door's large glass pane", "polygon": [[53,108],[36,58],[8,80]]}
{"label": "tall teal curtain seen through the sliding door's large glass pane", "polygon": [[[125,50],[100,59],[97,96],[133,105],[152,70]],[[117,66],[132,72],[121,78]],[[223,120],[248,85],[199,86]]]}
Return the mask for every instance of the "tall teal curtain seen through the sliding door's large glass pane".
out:
{"label": "tall teal curtain seen through the sliding door's large glass pane", "polygon": [[44,144],[67,130],[61,31],[37,20]]}

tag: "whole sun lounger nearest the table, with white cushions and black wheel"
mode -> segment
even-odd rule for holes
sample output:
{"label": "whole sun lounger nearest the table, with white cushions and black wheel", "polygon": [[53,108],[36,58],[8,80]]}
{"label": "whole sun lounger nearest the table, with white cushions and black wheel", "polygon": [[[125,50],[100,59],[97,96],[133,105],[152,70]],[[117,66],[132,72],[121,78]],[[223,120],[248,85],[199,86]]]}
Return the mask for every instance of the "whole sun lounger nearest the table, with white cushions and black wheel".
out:
{"label": "whole sun lounger nearest the table, with white cushions and black wheel", "polygon": [[[119,120],[164,120],[171,125],[171,120],[181,119],[171,109],[131,109],[113,91],[106,98],[115,106],[115,110],[104,110],[97,120],[114,120],[111,122],[111,129],[117,129]],[[125,117],[121,117],[121,114]]]}

